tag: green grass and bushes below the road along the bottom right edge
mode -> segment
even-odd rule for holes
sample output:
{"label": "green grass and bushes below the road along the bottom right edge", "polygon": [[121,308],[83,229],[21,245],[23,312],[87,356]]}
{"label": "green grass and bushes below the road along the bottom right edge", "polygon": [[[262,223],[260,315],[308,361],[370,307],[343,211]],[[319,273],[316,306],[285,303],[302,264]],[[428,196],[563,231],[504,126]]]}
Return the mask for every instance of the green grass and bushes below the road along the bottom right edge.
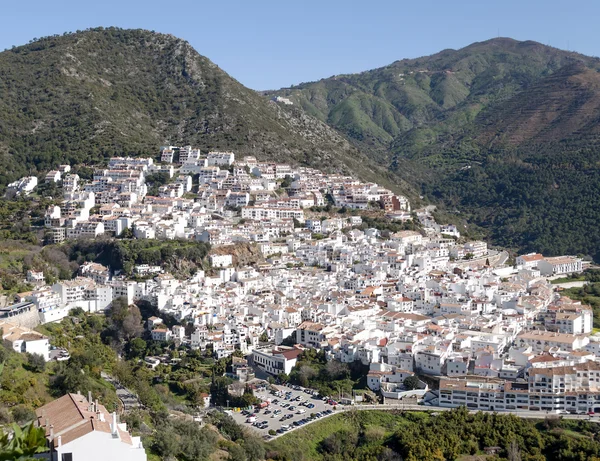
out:
{"label": "green grass and bushes below the road along the bottom right edge", "polygon": [[463,407],[437,416],[416,412],[346,412],[311,424],[267,444],[277,461],[456,460],[485,455],[508,460],[598,459],[598,427],[587,421],[520,419],[493,413],[469,414]]}

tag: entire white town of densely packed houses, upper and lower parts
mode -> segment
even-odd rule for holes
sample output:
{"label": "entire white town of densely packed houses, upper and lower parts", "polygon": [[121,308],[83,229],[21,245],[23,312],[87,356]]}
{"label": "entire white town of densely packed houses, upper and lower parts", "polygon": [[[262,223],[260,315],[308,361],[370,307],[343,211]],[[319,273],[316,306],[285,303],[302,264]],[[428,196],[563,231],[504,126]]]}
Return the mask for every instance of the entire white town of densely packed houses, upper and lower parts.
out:
{"label": "entire white town of densely packed houses, upper and lower parts", "polygon": [[[430,208],[411,213],[405,197],[377,184],[253,157],[236,161],[229,152],[203,156],[189,146],[163,147],[160,156],[160,164],[111,159],[88,184],[65,176],[65,201],[48,210],[47,227],[59,240],[131,228],[140,238],[254,242],[265,262],[236,267],[230,254],[215,253],[212,271],[188,280],[158,266],[138,266],[150,277],[129,280],[94,263],[52,286],[31,273],[36,289],[19,301],[40,322],[60,320],[72,307],[102,311],[124,296],[193,326],[186,334],[154,317],[147,325],[153,339],[210,348],[217,358],[239,349],[272,375],[289,373],[303,348],[316,348],[368,366],[369,388],[390,398],[405,395],[407,377],[425,374],[443,377],[429,394],[442,406],[579,411],[598,401],[600,408],[592,312],[559,297],[547,279],[581,271],[579,258],[528,254],[508,266],[485,242],[461,239]],[[149,196],[145,178],[156,172],[172,181]],[[420,231],[383,236],[361,230],[355,214],[308,213],[327,203],[377,203],[390,220],[418,220]]]}

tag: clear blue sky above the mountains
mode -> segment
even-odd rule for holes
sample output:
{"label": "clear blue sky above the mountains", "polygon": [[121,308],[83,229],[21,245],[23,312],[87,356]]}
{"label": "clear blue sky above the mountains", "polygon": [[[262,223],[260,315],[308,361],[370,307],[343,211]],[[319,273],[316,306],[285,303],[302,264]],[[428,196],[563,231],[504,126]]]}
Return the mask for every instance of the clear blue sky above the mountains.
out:
{"label": "clear blue sky above the mountains", "polygon": [[583,0],[17,0],[0,49],[97,26],[188,40],[241,83],[274,89],[498,35],[597,56],[600,2]]}

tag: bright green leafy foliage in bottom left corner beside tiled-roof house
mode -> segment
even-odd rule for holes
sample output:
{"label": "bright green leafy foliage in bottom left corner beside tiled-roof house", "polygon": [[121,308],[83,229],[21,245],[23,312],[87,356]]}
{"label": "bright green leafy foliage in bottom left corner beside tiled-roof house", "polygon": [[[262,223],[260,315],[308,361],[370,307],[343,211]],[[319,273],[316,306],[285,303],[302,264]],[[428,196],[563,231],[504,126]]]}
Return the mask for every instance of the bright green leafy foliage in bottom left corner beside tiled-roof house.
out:
{"label": "bright green leafy foliage in bottom left corner beside tiled-roof house", "polygon": [[0,428],[0,461],[33,460],[35,455],[48,451],[46,434],[33,422],[24,427],[12,424],[12,434]]}

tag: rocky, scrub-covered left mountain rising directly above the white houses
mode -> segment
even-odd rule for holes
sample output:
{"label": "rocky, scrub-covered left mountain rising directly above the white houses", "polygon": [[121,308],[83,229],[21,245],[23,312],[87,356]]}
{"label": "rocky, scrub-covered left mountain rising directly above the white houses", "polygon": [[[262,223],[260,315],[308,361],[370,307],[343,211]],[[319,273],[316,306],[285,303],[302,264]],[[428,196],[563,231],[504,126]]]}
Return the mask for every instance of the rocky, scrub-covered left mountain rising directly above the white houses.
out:
{"label": "rocky, scrub-covered left mountain rising directly above the white houses", "polygon": [[164,144],[392,177],[325,123],[266,101],[171,35],[99,28],[0,53],[0,185]]}

